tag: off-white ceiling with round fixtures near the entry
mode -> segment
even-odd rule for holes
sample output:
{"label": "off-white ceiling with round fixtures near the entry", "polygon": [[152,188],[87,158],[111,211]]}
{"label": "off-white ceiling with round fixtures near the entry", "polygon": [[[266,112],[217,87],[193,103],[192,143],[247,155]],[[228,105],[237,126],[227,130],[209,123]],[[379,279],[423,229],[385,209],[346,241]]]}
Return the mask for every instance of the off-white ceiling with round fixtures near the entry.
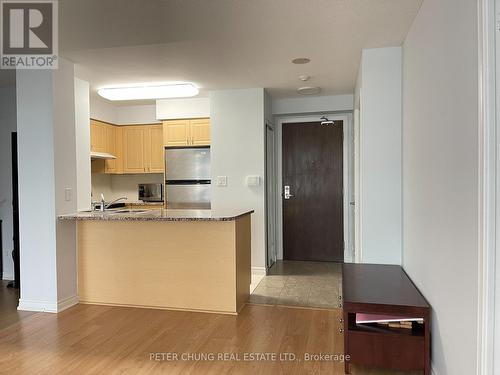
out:
{"label": "off-white ceiling with round fixtures near the entry", "polygon": [[[214,89],[352,93],[362,48],[401,45],[422,0],[63,0],[60,54],[92,90],[190,81]],[[295,65],[291,60],[308,57]],[[299,75],[311,76],[301,82]]]}

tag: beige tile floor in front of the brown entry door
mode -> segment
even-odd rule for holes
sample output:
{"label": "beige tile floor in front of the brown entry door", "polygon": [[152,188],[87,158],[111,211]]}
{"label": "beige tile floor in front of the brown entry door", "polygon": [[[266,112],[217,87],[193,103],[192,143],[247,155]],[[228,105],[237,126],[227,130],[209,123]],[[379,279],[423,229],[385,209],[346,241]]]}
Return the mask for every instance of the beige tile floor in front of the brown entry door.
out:
{"label": "beige tile floor in front of the brown entry door", "polygon": [[255,290],[253,304],[339,308],[342,264],[333,262],[276,262]]}

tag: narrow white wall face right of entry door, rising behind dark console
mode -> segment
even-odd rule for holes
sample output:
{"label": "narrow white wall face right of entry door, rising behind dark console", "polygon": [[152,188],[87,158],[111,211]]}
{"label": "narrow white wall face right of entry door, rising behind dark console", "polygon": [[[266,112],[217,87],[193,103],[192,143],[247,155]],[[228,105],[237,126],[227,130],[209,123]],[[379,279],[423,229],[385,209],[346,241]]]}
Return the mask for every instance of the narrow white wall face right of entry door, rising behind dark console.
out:
{"label": "narrow white wall face right of entry door, rising behind dark console", "polygon": [[401,264],[401,47],[363,50],[360,79],[361,261]]}

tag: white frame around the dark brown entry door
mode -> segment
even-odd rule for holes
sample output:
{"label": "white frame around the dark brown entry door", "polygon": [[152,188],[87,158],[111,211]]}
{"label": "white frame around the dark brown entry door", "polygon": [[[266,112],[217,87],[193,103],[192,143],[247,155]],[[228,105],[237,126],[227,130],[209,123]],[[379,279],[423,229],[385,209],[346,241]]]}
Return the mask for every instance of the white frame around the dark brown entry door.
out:
{"label": "white frame around the dark brown entry door", "polygon": [[[276,223],[276,245],[277,245],[277,259],[283,259],[283,123],[300,123],[300,122],[318,122],[321,121],[320,117],[326,116],[332,121],[343,121],[343,208],[344,208],[344,262],[354,262],[354,242],[351,240],[351,233],[354,231],[354,226],[350,225],[349,209],[350,202],[353,199],[354,186],[350,176],[354,173],[354,164],[351,162],[351,152],[353,151],[353,116],[352,112],[338,113],[338,112],[321,112],[318,114],[307,115],[290,115],[280,116],[276,118],[276,159],[277,159],[277,189],[276,189],[276,203],[277,203],[277,223]],[[356,233],[355,238],[356,238]]]}

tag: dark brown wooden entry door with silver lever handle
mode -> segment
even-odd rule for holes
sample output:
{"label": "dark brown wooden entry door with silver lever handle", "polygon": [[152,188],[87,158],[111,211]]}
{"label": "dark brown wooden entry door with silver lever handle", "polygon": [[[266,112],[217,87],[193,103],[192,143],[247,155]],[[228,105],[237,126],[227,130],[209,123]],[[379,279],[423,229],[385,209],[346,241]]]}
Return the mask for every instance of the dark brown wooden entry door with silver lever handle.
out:
{"label": "dark brown wooden entry door with silver lever handle", "polygon": [[286,260],[344,261],[342,127],[283,124]]}

